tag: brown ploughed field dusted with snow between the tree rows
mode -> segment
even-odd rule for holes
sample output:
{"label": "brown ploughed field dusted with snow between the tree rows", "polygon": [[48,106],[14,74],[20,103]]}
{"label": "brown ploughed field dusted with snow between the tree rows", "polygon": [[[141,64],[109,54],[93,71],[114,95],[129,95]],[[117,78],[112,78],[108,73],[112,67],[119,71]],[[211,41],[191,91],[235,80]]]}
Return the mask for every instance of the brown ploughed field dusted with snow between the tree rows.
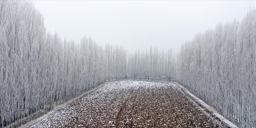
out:
{"label": "brown ploughed field dusted with snow between the tree rows", "polygon": [[55,111],[31,128],[226,128],[171,83],[115,81]]}

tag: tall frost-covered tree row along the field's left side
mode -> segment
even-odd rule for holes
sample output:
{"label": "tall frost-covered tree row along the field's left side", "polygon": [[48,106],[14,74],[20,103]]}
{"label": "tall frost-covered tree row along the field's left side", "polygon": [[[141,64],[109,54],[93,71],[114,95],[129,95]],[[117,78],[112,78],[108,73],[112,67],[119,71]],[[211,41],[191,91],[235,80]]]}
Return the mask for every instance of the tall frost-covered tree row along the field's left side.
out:
{"label": "tall frost-covered tree row along the field's left side", "polygon": [[46,33],[30,1],[0,2],[0,126],[17,126],[100,83],[125,79],[126,50]]}

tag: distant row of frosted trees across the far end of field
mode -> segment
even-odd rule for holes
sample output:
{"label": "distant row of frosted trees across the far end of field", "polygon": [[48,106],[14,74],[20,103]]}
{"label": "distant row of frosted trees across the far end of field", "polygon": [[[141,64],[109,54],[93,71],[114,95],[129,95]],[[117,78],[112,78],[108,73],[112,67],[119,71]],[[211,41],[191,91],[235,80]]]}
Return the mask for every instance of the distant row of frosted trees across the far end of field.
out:
{"label": "distant row of frosted trees across the far end of field", "polygon": [[147,81],[170,82],[176,76],[175,54],[172,50],[164,52],[158,48],[136,51],[127,56],[127,78]]}

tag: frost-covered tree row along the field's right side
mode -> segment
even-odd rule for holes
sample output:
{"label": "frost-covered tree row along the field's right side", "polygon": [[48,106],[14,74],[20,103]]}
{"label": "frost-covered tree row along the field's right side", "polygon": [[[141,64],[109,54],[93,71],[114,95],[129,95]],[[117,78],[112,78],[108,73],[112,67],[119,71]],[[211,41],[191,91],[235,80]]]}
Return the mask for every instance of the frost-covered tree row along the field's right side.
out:
{"label": "frost-covered tree row along the field's right side", "polygon": [[256,11],[218,23],[182,45],[177,76],[237,126],[256,126]]}

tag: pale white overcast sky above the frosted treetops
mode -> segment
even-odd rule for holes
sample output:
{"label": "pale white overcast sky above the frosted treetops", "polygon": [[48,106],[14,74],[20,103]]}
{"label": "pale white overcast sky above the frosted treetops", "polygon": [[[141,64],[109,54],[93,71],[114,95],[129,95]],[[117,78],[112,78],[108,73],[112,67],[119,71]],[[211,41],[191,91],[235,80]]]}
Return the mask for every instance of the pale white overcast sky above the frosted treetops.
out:
{"label": "pale white overcast sky above the frosted treetops", "polygon": [[128,51],[172,48],[218,22],[242,19],[256,1],[34,1],[47,31],[62,40],[91,36],[97,44],[122,45]]}

